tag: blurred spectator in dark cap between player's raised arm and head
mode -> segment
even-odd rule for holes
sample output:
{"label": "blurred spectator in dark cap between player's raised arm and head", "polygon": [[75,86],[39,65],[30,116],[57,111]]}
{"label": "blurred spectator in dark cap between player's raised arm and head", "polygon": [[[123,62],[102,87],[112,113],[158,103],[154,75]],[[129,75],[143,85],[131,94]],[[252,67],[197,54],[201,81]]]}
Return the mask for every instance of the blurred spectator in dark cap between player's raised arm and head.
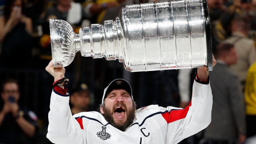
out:
{"label": "blurred spectator in dark cap between player's raised arm and head", "polygon": [[81,83],[70,96],[72,115],[81,112],[90,111],[90,91],[85,83]]}

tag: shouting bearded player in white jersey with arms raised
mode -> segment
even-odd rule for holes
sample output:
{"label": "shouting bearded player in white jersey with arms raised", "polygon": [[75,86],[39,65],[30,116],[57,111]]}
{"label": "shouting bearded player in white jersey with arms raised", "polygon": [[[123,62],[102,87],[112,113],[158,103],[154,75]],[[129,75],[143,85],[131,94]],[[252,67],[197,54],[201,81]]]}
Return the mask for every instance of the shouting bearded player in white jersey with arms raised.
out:
{"label": "shouting bearded player in white jersey with arms raised", "polygon": [[65,69],[54,69],[52,61],[45,69],[55,78],[47,133],[55,144],[177,144],[211,122],[212,94],[206,67],[198,68],[192,100],[185,109],[150,105],[136,110],[129,83],[116,79],[104,90],[101,113],[73,116],[64,87]]}

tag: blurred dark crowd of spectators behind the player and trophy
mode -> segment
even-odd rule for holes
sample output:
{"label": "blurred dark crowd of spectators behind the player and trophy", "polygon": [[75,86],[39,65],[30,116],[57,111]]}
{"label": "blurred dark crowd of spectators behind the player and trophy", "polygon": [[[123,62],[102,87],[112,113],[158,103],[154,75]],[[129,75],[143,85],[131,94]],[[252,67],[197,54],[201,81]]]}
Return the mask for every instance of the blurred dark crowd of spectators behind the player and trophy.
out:
{"label": "blurred dark crowd of spectators behind the player and trophy", "polygon": [[[0,144],[51,144],[46,139],[53,83],[45,71],[52,59],[49,19],[67,21],[78,33],[81,27],[115,19],[124,5],[158,1],[0,0]],[[256,137],[256,0],[207,2],[218,63],[209,72],[210,81],[214,78],[212,123],[180,144],[250,144]],[[99,111],[103,90],[115,78],[132,85],[137,108],[185,108],[195,71],[130,73],[118,61],[85,58],[78,52],[65,74],[71,111]]]}

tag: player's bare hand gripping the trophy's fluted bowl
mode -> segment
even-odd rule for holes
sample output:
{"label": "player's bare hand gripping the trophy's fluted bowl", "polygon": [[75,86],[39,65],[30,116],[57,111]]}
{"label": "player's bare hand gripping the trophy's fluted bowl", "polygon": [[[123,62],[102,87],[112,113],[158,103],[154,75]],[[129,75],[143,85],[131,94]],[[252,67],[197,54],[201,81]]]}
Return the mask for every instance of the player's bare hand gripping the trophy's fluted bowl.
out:
{"label": "player's bare hand gripping the trophy's fluted bowl", "polygon": [[48,66],[46,66],[45,70],[48,71],[54,77],[54,81],[57,81],[65,77],[65,68],[53,68],[52,60],[50,61]]}

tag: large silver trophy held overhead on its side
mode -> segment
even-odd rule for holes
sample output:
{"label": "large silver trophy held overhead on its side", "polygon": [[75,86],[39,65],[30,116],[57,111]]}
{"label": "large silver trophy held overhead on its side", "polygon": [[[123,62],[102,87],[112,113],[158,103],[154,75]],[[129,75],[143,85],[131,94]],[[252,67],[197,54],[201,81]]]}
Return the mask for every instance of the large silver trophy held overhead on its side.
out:
{"label": "large silver trophy held overhead on its side", "polygon": [[54,68],[83,57],[123,62],[127,71],[207,66],[212,70],[207,0],[171,0],[126,5],[115,21],[91,24],[76,34],[66,22],[50,19]]}

